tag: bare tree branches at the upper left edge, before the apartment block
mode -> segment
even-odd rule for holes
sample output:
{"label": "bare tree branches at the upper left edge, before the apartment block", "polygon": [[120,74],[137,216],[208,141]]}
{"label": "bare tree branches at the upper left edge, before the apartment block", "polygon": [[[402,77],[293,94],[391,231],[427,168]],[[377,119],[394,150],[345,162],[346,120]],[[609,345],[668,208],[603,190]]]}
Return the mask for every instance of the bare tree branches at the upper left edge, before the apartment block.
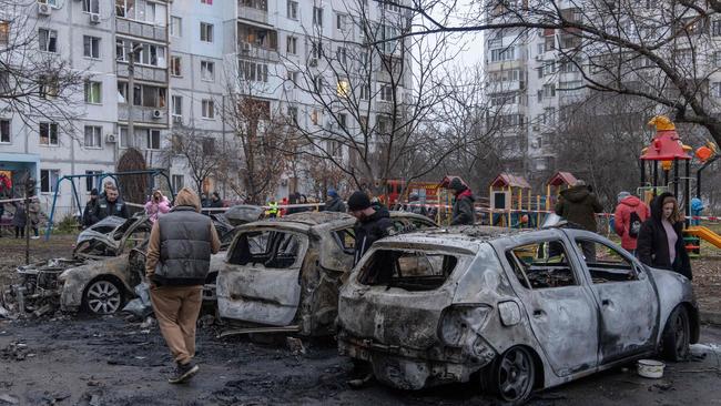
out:
{"label": "bare tree branches at the upper left edge, before the apartment block", "polygon": [[0,0],[0,106],[26,125],[40,120],[75,133],[74,108],[82,101],[87,73],[59,58],[58,33],[30,18],[37,1]]}

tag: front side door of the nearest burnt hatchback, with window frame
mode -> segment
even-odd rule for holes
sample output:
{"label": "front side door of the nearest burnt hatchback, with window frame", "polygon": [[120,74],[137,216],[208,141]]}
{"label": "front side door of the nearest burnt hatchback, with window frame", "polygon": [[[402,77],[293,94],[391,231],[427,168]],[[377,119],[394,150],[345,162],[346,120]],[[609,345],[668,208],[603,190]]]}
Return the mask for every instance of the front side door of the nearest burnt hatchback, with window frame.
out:
{"label": "front side door of the nearest burnt hatchback, with window frame", "polygon": [[651,349],[659,304],[649,275],[609,241],[590,235],[575,241],[600,308],[600,363]]}

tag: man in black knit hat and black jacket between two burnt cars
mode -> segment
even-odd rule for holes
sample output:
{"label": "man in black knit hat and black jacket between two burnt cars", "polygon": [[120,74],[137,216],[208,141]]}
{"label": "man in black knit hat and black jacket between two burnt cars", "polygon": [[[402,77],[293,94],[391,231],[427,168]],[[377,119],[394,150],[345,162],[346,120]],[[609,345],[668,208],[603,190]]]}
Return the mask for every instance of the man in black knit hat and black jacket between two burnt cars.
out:
{"label": "man in black knit hat and black jacket between two burnt cars", "polygon": [[358,220],[354,227],[355,256],[353,265],[355,265],[373,243],[393,234],[394,229],[388,210],[383,206],[374,209],[368,195],[360,191],[353,193],[348,199],[348,213]]}

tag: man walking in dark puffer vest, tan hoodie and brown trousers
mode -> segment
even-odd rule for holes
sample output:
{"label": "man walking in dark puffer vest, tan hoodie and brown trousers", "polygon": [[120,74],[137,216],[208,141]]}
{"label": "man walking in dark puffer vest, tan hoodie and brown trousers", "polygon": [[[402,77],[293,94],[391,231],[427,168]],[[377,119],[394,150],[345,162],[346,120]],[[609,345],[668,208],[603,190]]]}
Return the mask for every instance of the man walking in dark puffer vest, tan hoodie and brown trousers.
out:
{"label": "man walking in dark puffer vest, tan hoodie and brown trousers", "polygon": [[220,247],[213,222],[201,214],[201,202],[187,187],[177,192],[175,206],[150,233],[145,274],[158,325],[176,364],[171,384],[187,382],[199,371],[193,363],[195,323],[211,254]]}

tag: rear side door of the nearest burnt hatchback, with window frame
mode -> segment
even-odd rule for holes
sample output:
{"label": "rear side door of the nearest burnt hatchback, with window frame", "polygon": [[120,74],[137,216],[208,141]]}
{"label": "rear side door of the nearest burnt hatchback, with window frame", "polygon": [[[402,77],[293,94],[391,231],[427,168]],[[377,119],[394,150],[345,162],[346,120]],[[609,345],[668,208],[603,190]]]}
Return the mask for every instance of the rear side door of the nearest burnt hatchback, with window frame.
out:
{"label": "rear side door of the nearest burnt hatchback, with window frame", "polygon": [[568,243],[547,234],[521,236],[506,250],[511,283],[534,335],[558,376],[598,364],[598,308]]}

